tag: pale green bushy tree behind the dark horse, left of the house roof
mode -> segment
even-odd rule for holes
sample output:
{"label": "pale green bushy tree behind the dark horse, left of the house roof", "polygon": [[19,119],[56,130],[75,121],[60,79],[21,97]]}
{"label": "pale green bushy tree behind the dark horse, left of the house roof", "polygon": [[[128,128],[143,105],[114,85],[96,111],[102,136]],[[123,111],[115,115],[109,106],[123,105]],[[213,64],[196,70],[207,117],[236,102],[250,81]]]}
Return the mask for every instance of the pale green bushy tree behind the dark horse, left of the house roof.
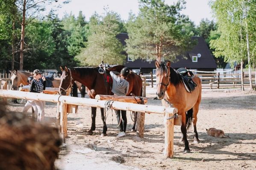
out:
{"label": "pale green bushy tree behind the dark horse, left of the house roof", "polygon": [[105,16],[94,14],[90,18],[87,46],[76,57],[83,66],[97,66],[102,60],[109,64],[124,62],[123,45],[116,38],[120,33],[120,23],[121,19],[115,12],[106,12]]}

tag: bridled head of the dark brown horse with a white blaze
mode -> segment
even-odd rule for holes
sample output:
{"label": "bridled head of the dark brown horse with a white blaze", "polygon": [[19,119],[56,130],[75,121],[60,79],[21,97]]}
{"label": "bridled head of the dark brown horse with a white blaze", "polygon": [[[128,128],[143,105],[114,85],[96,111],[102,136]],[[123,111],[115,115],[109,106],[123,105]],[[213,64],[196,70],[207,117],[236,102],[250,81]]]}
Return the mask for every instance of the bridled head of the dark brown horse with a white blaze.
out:
{"label": "bridled head of the dark brown horse with a white blaze", "polygon": [[66,66],[65,69],[62,69],[62,66],[60,66],[60,69],[62,71],[62,75],[60,76],[59,94],[66,95],[68,89],[74,83],[74,80],[72,78],[70,69],[68,69]]}

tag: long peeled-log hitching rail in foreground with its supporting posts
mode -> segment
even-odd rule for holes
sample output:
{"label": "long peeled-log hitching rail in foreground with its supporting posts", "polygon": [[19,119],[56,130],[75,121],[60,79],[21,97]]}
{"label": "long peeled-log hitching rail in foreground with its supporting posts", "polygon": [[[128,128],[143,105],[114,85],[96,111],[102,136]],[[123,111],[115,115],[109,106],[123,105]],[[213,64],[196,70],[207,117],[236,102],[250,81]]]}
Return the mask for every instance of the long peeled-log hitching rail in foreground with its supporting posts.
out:
{"label": "long peeled-log hitching rail in foreground with its supporting posts", "polygon": [[[0,97],[23,98],[27,100],[38,100],[38,101],[49,101],[54,103],[60,103],[60,106],[62,108],[61,115],[60,115],[60,118],[61,118],[60,124],[62,129],[61,131],[64,135],[66,135],[66,132],[67,132],[68,104],[104,108],[106,103],[106,100],[76,98],[76,97],[63,96],[63,95],[48,95],[44,93],[31,93],[31,92],[21,92],[21,91],[3,90],[3,89],[0,89]],[[171,117],[172,115],[178,112],[176,108],[172,108],[172,107],[132,104],[132,103],[119,102],[119,101],[114,101],[112,103],[111,109],[119,109],[119,110],[121,109],[121,110],[129,110],[129,111],[144,112],[144,113],[159,113],[159,114],[165,114],[165,117]],[[164,153],[165,153],[165,156],[168,156],[168,157],[173,157],[173,139],[174,139],[173,126],[174,126],[174,119],[165,120],[165,152]]]}

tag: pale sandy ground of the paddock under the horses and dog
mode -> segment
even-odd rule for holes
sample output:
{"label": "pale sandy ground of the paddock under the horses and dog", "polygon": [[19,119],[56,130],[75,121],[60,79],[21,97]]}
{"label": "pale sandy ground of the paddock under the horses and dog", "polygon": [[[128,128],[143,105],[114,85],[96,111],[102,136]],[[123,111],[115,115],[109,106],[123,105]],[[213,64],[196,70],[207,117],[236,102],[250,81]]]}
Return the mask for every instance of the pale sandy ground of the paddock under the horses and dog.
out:
{"label": "pale sandy ground of the paddock under the horses and dog", "polygon": [[[153,100],[154,89],[147,89],[150,105],[161,105]],[[97,109],[96,130],[85,135],[91,127],[90,107],[79,107],[78,114],[68,115],[68,138],[61,148],[56,166],[62,170],[255,170],[256,169],[256,93],[240,90],[203,90],[198,113],[197,132],[200,143],[193,144],[193,127],[188,132],[191,153],[182,153],[184,144],[179,126],[174,128],[174,158],[166,158],[164,149],[163,116],[145,115],[144,138],[131,132],[132,120],[127,112],[127,135],[116,138],[118,128],[115,112],[107,117],[108,136],[101,138],[102,121]],[[21,112],[24,104],[8,108]],[[46,121],[55,122],[56,106],[47,102]],[[53,124],[53,123],[52,123]],[[53,124],[54,125],[54,124]],[[215,138],[206,134],[206,128],[224,130],[230,138]],[[89,149],[90,147],[91,149]],[[122,156],[124,163],[110,159]]]}

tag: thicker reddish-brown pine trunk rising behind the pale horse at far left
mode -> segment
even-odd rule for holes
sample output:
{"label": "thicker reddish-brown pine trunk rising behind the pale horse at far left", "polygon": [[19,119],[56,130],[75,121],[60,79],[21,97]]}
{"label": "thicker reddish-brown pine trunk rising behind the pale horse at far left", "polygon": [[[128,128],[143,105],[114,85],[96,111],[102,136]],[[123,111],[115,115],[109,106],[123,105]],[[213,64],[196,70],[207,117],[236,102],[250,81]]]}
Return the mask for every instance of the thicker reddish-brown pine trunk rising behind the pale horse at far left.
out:
{"label": "thicker reddish-brown pine trunk rising behind the pale horse at far left", "polygon": [[26,20],[26,0],[23,2],[23,14],[21,23],[21,51],[20,51],[20,70],[23,70],[23,51],[24,51],[24,37],[25,37],[25,20]]}

